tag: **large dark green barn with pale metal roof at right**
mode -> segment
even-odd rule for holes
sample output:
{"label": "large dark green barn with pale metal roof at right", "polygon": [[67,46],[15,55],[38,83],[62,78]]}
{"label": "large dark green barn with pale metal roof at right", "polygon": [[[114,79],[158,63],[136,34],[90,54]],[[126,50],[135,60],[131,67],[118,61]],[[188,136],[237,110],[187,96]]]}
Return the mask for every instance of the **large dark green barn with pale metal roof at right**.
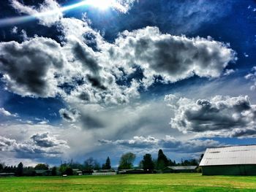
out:
{"label": "large dark green barn with pale metal roof at right", "polygon": [[208,148],[200,166],[203,175],[256,175],[256,145]]}

